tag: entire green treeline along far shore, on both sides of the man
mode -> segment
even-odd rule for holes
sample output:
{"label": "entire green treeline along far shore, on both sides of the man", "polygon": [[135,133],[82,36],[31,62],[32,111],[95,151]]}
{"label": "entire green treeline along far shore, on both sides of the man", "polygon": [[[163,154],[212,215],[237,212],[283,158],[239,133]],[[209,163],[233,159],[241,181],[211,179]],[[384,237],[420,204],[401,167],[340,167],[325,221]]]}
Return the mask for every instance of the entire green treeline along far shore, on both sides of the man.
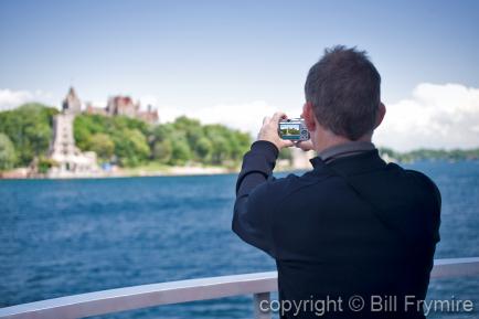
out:
{"label": "entire green treeline along far shore, on both sides of the man", "polygon": [[[36,103],[0,111],[0,170],[26,167],[34,158],[47,162],[53,116],[57,113],[54,107]],[[123,116],[82,114],[75,118],[74,136],[79,149],[95,151],[100,162],[121,167],[151,162],[235,167],[252,142],[246,132],[223,125],[202,125],[184,116],[173,123],[149,125]],[[479,149],[396,152],[380,148],[380,152],[400,162],[479,159]],[[281,152],[280,158],[290,159],[290,152]]]}

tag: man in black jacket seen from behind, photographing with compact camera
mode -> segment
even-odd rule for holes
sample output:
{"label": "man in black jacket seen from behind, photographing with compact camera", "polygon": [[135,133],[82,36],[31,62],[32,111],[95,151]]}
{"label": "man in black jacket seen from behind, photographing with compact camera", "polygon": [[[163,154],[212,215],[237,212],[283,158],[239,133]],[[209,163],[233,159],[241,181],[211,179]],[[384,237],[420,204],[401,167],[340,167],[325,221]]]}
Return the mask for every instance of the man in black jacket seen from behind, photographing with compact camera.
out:
{"label": "man in black jacket seen from behind, photographing with compact camera", "polygon": [[276,259],[283,318],[424,318],[440,194],[371,142],[385,115],[380,85],[365,52],[326,50],[305,85],[311,138],[298,145],[317,151],[313,169],[272,177],[292,146],[277,134],[281,113],[244,156],[233,231]]}

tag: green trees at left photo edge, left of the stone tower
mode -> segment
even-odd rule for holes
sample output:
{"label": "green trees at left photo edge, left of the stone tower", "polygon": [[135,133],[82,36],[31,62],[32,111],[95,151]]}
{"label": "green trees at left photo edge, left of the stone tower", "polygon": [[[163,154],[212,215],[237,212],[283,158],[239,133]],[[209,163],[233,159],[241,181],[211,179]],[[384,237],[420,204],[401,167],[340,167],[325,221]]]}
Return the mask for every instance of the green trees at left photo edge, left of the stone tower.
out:
{"label": "green trees at left photo edge, left of the stone tower", "polygon": [[29,166],[34,157],[44,156],[52,140],[53,116],[58,111],[38,103],[0,113],[0,132],[14,145],[14,166]]}

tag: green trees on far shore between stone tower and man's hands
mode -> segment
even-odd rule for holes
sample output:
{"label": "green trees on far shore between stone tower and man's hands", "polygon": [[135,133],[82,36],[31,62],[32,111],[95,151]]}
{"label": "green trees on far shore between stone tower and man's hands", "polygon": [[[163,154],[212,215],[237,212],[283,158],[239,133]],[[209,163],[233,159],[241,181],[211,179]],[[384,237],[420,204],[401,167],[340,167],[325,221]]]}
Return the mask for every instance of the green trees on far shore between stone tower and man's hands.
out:
{"label": "green trees on far shore between stone tower and man's hands", "polygon": [[163,164],[236,166],[249,148],[246,132],[223,125],[201,125],[184,116],[173,123],[148,125],[123,116],[83,114],[75,118],[74,135],[82,150],[93,150],[103,161],[136,167]]}

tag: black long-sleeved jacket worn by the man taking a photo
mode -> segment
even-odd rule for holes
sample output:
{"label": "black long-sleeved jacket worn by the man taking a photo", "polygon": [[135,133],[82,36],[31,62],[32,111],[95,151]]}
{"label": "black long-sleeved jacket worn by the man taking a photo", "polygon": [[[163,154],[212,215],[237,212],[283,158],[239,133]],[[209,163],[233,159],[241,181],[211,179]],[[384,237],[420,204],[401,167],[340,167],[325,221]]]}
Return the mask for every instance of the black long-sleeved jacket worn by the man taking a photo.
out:
{"label": "black long-sleeved jacket worn by the man taking a photo", "polygon": [[[276,259],[280,300],[342,300],[321,318],[424,318],[409,302],[425,298],[439,241],[434,182],[385,163],[377,150],[328,164],[315,158],[304,176],[274,179],[277,156],[267,141],[244,156],[233,231]],[[351,310],[352,296],[364,300],[362,310]],[[381,304],[372,296],[394,309],[370,311]],[[318,318],[315,309],[283,317]]]}

